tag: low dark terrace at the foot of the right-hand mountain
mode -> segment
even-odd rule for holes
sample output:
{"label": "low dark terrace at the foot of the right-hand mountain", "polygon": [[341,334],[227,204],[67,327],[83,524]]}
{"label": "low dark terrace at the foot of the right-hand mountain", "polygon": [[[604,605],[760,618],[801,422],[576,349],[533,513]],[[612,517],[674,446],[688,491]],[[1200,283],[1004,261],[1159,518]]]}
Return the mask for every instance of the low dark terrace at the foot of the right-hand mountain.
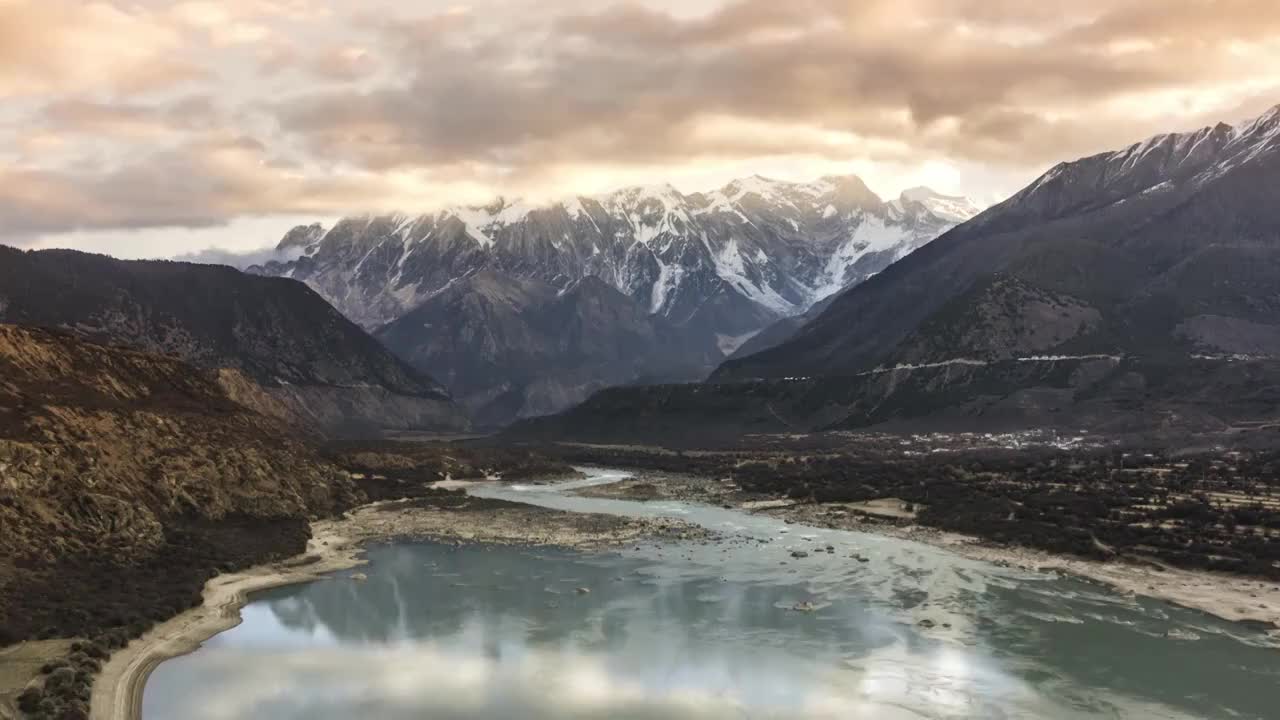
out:
{"label": "low dark terrace at the foot of the right-hand mountain", "polygon": [[1158,438],[1271,425],[1280,361],[1170,364],[1106,357],[940,365],[845,378],[616,387],[512,441],[653,442],[700,447],[749,433],[877,427],[909,432],[1062,428]]}

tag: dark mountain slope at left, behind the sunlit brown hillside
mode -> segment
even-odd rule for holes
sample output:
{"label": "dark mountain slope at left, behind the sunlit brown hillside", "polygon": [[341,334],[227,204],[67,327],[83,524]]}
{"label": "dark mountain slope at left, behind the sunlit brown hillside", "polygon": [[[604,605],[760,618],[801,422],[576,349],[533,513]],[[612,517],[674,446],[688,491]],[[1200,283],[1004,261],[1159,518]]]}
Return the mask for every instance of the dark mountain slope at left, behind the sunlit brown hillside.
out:
{"label": "dark mountain slope at left, behind the sunlit brown hillside", "polygon": [[438,383],[293,281],[0,247],[0,322],[241,370],[329,430],[466,425]]}

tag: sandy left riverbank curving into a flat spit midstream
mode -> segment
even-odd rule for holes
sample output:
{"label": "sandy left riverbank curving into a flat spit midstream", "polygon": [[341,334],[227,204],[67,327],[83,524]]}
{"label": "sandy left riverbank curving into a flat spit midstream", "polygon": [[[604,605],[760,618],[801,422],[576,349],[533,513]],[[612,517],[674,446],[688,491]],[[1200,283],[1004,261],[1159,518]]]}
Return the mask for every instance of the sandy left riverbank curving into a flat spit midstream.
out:
{"label": "sandy left riverbank curving into a flat spit midstream", "polygon": [[708,534],[680,520],[562,512],[462,492],[366,505],[342,519],[314,523],[307,551],[300,556],[215,577],[205,584],[202,605],[156,625],[111,655],[93,683],[90,717],[141,717],[142,693],[151,671],[238,625],[250,593],[319,580],[357,566],[365,562],[362,548],[372,542],[434,539],[600,548],[641,538],[690,539]]}

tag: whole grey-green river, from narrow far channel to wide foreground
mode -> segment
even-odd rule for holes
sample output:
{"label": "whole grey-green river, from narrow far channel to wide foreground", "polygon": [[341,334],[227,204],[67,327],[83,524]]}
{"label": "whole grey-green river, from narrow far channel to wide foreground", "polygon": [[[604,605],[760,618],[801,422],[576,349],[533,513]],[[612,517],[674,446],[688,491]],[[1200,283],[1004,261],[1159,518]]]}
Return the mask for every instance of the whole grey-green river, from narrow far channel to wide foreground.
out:
{"label": "whole grey-green river, from narrow far channel to wide foreground", "polygon": [[375,546],[161,664],[143,719],[1277,716],[1280,648],[1251,628],[910,541],[570,492],[623,477],[470,492],[723,539]]}

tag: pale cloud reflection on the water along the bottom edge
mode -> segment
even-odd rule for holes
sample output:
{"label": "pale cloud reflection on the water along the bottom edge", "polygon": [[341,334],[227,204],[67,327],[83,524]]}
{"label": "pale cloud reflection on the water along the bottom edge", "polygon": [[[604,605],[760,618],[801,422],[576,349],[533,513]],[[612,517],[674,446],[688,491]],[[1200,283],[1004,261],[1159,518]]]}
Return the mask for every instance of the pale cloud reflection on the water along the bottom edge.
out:
{"label": "pale cloud reflection on the water along the bottom edge", "polygon": [[202,664],[205,682],[183,701],[193,720],[995,717],[980,697],[989,694],[1006,708],[1021,706],[1000,716],[1048,710],[1018,682],[973,678],[959,655],[922,664],[900,647],[869,659],[867,670],[703,653],[644,673],[599,653],[503,650],[489,655],[466,633],[393,647],[227,650]]}

